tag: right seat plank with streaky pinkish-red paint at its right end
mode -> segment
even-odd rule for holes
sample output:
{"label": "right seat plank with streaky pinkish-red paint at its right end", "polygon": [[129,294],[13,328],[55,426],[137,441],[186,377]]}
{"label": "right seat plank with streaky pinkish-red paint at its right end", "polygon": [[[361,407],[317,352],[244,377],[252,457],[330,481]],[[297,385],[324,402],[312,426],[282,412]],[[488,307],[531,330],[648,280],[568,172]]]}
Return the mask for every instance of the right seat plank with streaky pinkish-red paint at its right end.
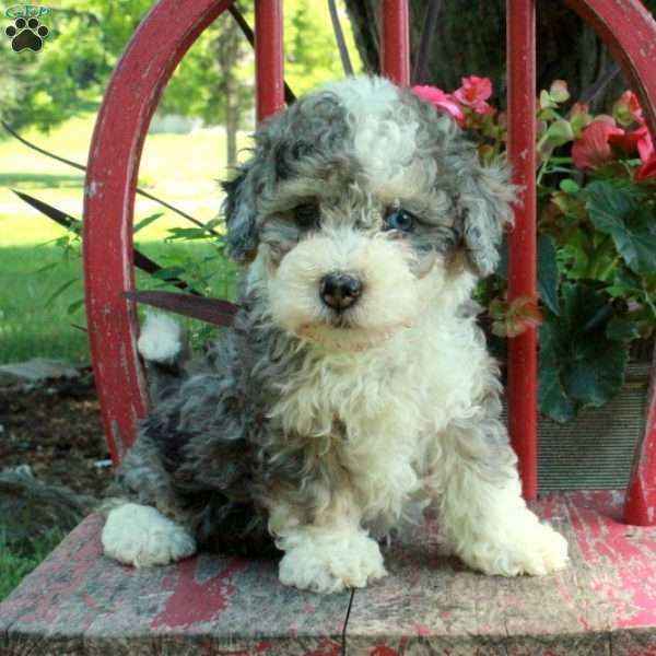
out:
{"label": "right seat plank with streaky pinkish-red paint at its right end", "polygon": [[570,567],[544,577],[470,572],[435,524],[406,536],[390,576],[355,594],[348,654],[656,655],[656,530],[621,524],[622,503],[612,491],[536,502],[570,540]]}

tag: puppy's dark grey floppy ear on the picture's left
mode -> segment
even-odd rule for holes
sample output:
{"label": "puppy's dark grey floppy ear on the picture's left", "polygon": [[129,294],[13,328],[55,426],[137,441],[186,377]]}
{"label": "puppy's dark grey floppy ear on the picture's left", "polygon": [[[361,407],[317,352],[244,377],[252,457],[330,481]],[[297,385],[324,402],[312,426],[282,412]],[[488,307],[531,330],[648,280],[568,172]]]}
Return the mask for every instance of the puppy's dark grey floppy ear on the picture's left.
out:
{"label": "puppy's dark grey floppy ear on the picture's left", "polygon": [[222,211],[227,226],[227,255],[239,262],[253,260],[258,245],[254,168],[249,162],[232,180],[221,184],[225,191]]}

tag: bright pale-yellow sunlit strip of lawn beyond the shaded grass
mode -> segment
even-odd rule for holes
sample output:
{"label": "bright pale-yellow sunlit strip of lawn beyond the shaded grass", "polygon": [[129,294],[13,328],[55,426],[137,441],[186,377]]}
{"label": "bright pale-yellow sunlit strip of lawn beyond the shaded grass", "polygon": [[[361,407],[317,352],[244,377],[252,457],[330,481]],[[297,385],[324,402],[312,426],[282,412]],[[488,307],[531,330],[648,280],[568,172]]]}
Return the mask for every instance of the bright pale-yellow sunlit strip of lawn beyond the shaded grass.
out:
{"label": "bright pale-yellow sunlit strip of lawn beyond the shaded grass", "polygon": [[[95,116],[74,118],[49,134],[34,130],[24,137],[73,162],[86,163]],[[241,148],[248,144],[241,133]],[[35,153],[15,139],[0,141],[0,248],[35,245],[61,234],[50,220],[19,199],[12,189],[23,190],[72,216],[82,216],[84,174]],[[190,134],[149,134],[145,140],[139,181],[148,191],[179,207],[200,221],[213,219],[221,203],[218,179],[226,174],[225,136],[212,128]],[[161,206],[137,197],[134,216],[152,214]],[[143,231],[143,239],[161,239],[173,226],[189,225],[167,212]]]}

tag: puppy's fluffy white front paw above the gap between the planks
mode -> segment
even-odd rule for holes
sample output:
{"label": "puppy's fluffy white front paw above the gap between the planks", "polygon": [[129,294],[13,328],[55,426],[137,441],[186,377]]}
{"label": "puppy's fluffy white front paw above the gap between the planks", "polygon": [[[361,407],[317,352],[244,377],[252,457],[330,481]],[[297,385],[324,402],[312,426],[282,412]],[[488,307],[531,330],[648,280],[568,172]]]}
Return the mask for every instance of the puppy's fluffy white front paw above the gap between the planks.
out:
{"label": "puppy's fluffy white front paw above the gap between the planks", "polygon": [[279,569],[281,583],[315,593],[364,587],[386,574],[378,544],[364,534],[354,534],[339,543],[297,540]]}

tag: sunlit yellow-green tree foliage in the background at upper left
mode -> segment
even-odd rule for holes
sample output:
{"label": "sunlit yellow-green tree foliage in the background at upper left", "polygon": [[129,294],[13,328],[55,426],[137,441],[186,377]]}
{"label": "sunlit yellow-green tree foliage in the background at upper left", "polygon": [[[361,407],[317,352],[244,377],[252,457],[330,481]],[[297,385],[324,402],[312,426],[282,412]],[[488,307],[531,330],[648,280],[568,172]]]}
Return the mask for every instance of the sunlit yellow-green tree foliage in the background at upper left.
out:
{"label": "sunlit yellow-green tree foliage in the background at upper left", "polygon": [[[239,8],[253,25],[251,4]],[[97,108],[126,44],[152,5],[153,0],[61,0],[44,19],[50,33],[40,51],[15,54],[4,44],[0,115],[16,129],[48,130]],[[285,77],[296,93],[342,75],[326,2],[285,0],[284,21]],[[347,37],[353,46],[348,30]],[[250,46],[226,12],[187,52],[159,112],[225,124],[233,134],[237,127],[250,127],[245,119],[254,106],[253,67]],[[234,152],[231,139],[229,152]]]}

